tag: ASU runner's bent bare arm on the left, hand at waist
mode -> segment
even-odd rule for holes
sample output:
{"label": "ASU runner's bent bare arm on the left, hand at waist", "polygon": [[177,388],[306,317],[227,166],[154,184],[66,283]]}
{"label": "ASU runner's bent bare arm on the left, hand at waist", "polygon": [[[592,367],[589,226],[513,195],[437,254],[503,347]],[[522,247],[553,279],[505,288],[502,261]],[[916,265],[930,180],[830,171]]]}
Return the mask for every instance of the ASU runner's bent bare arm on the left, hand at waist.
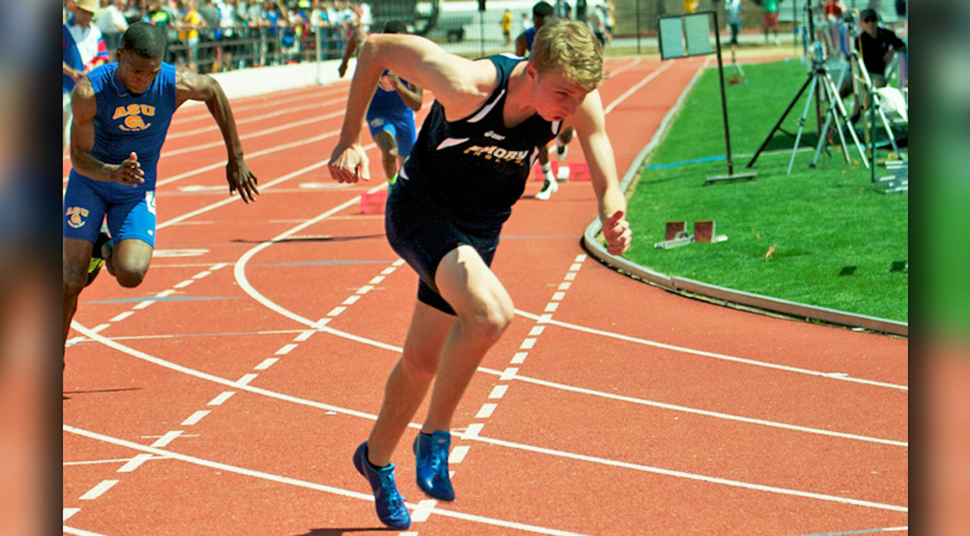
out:
{"label": "ASU runner's bent bare arm on the left, hand at waist", "polygon": [[71,110],[74,112],[71,125],[71,166],[82,175],[104,182],[120,182],[138,186],[145,182],[138,155],[134,152],[120,164],[102,162],[91,155],[94,148],[94,115],[98,112],[98,102],[94,89],[87,77],[81,78],[74,86],[71,96]]}

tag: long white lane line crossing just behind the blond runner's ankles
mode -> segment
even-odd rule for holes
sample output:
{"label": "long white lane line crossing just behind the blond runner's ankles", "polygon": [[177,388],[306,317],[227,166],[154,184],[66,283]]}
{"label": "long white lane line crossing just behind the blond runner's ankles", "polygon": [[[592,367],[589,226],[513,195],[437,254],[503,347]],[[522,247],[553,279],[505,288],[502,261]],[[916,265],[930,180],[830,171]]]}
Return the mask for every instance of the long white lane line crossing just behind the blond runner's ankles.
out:
{"label": "long white lane line crossing just behind the blond runner's ankles", "polygon": [[[75,325],[77,325],[77,328],[76,329],[78,331],[81,331],[84,334],[90,333],[90,331],[87,330],[86,328],[84,328],[83,326],[78,325],[77,323],[75,323]],[[218,384],[222,384],[222,385],[229,385],[229,386],[235,386],[235,387],[238,387],[238,388],[240,388],[242,390],[248,391],[250,393],[263,394],[263,395],[270,396],[270,397],[273,397],[273,398],[276,398],[276,399],[279,399],[279,400],[285,400],[285,401],[288,401],[288,402],[293,402],[293,403],[297,403],[297,404],[301,404],[301,405],[306,405],[308,407],[314,407],[314,408],[324,409],[324,410],[328,410],[328,411],[335,411],[335,412],[343,413],[345,415],[352,415],[354,417],[362,417],[362,418],[365,418],[365,419],[369,419],[371,421],[375,421],[377,419],[377,416],[376,415],[372,415],[370,413],[365,413],[365,412],[362,412],[362,411],[357,411],[357,410],[352,410],[352,409],[347,409],[347,408],[341,408],[339,406],[334,406],[334,405],[331,405],[331,404],[325,404],[325,403],[322,403],[322,402],[316,402],[316,401],[313,401],[313,400],[307,400],[305,398],[298,398],[296,396],[292,396],[292,395],[289,395],[289,394],[275,393],[273,391],[269,391],[269,390],[266,390],[266,389],[259,389],[259,388],[250,387],[250,386],[237,386],[235,382],[232,382],[232,381],[227,380],[225,378],[220,378],[218,376],[214,376],[214,375],[211,375],[211,374],[206,373],[206,372],[201,372],[199,370],[194,370],[194,369],[188,368],[186,366],[182,366],[180,364],[169,363],[169,362],[167,362],[165,360],[162,360],[162,359],[159,359],[159,358],[156,358],[156,357],[153,357],[153,356],[149,356],[148,354],[146,354],[144,352],[141,352],[139,350],[135,350],[134,348],[126,347],[126,346],[124,346],[122,344],[119,344],[119,343],[116,343],[113,340],[110,340],[110,339],[107,339],[107,338],[105,338],[105,337],[103,337],[101,335],[98,335],[97,333],[90,333],[88,336],[91,336],[92,338],[95,338],[98,342],[100,342],[100,343],[102,343],[102,344],[104,344],[106,346],[110,346],[110,347],[114,348],[115,350],[121,351],[121,352],[126,353],[126,354],[128,354],[130,356],[133,356],[135,358],[144,360],[144,361],[146,361],[148,363],[159,364],[159,365],[164,366],[166,368],[170,368],[172,370],[177,370],[178,372],[182,372],[182,373],[187,374],[187,375],[190,375],[190,376],[194,376],[194,377],[197,377],[197,378],[209,380],[209,381],[211,381],[213,383],[218,383]],[[401,351],[401,349],[399,348],[398,349],[398,352],[400,352],[400,351]],[[479,369],[480,370],[483,370],[481,367],[479,367]],[[485,369],[485,370],[487,370],[487,369]],[[494,370],[493,371],[490,371],[490,373],[496,373],[496,372],[497,371],[494,371]],[[411,427],[411,428],[415,428],[415,429],[420,429],[421,428],[421,425],[420,424],[417,424],[417,423],[409,423],[407,426],[408,427]],[[73,431],[73,429],[68,429],[68,427],[69,426],[66,426],[65,425],[64,426],[64,429],[67,430],[67,431]],[[661,474],[668,474],[668,475],[671,475],[671,476],[680,476],[682,478],[688,478],[688,479],[694,479],[694,480],[705,480],[705,481],[713,482],[715,484],[724,484],[724,485],[727,485],[727,486],[737,486],[739,488],[772,490],[771,488],[762,487],[762,486],[757,485],[757,484],[736,483],[735,481],[727,481],[727,480],[724,480],[724,479],[714,479],[714,477],[707,477],[707,476],[704,476],[704,475],[693,475],[691,473],[683,473],[681,471],[673,471],[673,470],[670,470],[670,469],[649,467],[649,466],[645,466],[645,465],[638,465],[638,464],[635,464],[635,463],[629,463],[629,462],[625,462],[625,461],[617,461],[617,460],[613,460],[613,459],[605,459],[605,458],[598,458],[598,457],[589,457],[589,456],[585,456],[585,455],[577,455],[577,454],[568,453],[568,452],[565,452],[565,451],[557,451],[557,450],[553,450],[553,449],[546,449],[546,448],[543,448],[543,447],[536,447],[536,446],[533,446],[533,445],[525,445],[525,444],[521,444],[521,443],[513,443],[511,441],[502,441],[502,440],[499,440],[499,439],[493,439],[493,438],[488,438],[488,437],[480,437],[478,434],[481,432],[482,428],[484,428],[484,427],[485,427],[485,425],[483,425],[481,423],[472,423],[471,425],[469,425],[465,429],[465,432],[462,434],[462,436],[465,439],[472,439],[472,440],[476,440],[476,441],[482,441],[482,442],[485,442],[485,443],[490,443],[490,444],[495,444],[495,445],[501,445],[503,447],[508,447],[508,448],[512,448],[512,449],[520,449],[520,450],[525,450],[525,451],[532,451],[532,452],[536,452],[536,453],[539,453],[539,454],[545,454],[545,455],[550,455],[550,456],[566,457],[566,458],[578,459],[578,460],[589,461],[589,462],[593,462],[593,463],[600,463],[600,464],[611,465],[611,466],[628,467],[628,468],[635,469],[635,470],[639,470],[639,471],[646,471],[646,472],[655,472],[655,473],[661,473]],[[75,432],[75,433],[78,433],[78,432]],[[142,450],[144,452],[154,452],[154,451],[149,450],[149,448],[146,448],[143,445],[139,445],[137,443],[131,443],[131,444],[132,445],[136,445],[136,447],[134,447],[134,448],[136,448],[138,450]],[[162,456],[164,456],[164,455],[166,455],[168,453],[165,452],[165,451],[159,451],[159,453],[156,453],[156,454],[161,454]],[[764,489],[762,489],[762,488],[764,488]],[[776,492],[783,493],[783,494],[801,495],[801,496],[806,496],[806,497],[811,497],[811,498],[823,498],[824,500],[835,500],[836,502],[845,502],[845,503],[848,503],[848,504],[857,504],[857,505],[861,505],[861,506],[872,506],[873,508],[885,508],[885,509],[888,509],[888,510],[897,510],[897,511],[902,511],[902,512],[908,511],[905,507],[901,507],[901,506],[883,505],[883,504],[880,504],[880,503],[873,503],[873,502],[869,502],[869,501],[859,501],[857,499],[847,499],[845,497],[833,497],[831,495],[824,495],[824,494],[819,494],[819,493],[811,493],[811,492],[798,491],[798,490],[790,490],[790,489],[779,489]],[[370,497],[370,495],[368,495],[368,497]]]}

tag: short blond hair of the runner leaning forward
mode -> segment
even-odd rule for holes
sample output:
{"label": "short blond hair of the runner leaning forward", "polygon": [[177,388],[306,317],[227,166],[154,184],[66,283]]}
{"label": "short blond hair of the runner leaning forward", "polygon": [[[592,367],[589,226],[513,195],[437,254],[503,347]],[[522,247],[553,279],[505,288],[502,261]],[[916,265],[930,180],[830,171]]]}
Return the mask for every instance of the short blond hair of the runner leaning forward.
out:
{"label": "short blond hair of the runner leaning forward", "polygon": [[603,79],[603,52],[585,22],[553,19],[535,32],[529,61],[538,73],[562,72],[563,77],[592,91]]}

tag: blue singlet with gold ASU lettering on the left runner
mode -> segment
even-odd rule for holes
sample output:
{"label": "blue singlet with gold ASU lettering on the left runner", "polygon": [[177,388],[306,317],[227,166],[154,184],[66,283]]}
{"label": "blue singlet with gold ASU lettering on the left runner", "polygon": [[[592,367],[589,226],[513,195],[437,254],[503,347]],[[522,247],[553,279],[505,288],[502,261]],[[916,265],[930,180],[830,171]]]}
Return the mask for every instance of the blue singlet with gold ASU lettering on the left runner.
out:
{"label": "blue singlet with gold ASU lettering on the left runner", "polygon": [[[176,68],[163,62],[161,72],[148,89],[135,95],[115,76],[117,66],[116,62],[102,65],[87,75],[98,105],[91,156],[116,165],[134,151],[145,172],[145,183],[134,190],[154,190],[158,157],[176,111]],[[93,180],[74,169],[70,178]],[[133,190],[130,185],[118,182],[102,186],[125,196]]]}

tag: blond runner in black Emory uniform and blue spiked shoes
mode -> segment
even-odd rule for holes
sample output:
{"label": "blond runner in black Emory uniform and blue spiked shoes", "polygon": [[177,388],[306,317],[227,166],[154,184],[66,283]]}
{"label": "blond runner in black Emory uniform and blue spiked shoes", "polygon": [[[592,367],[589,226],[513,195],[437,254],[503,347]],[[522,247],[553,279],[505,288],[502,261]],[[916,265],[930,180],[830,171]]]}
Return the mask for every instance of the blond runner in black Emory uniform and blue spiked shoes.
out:
{"label": "blond runner in black Emory uniform and blue spiked shoes", "polygon": [[391,186],[384,220],[391,246],[420,278],[414,313],[377,421],[353,456],[371,485],[378,518],[404,528],[410,517],[391,454],[432,380],[428,415],[412,444],[415,474],[430,496],[455,499],[448,475],[451,421],[478,363],[514,315],[490,265],[539,147],[575,126],[611,254],[630,247],[630,226],[596,89],[602,50],[584,22],[547,22],[528,60],[512,54],[469,60],[421,37],[372,36],[358,55],[330,160],[339,182],[370,178],[360,131],[385,69],[436,97]]}

